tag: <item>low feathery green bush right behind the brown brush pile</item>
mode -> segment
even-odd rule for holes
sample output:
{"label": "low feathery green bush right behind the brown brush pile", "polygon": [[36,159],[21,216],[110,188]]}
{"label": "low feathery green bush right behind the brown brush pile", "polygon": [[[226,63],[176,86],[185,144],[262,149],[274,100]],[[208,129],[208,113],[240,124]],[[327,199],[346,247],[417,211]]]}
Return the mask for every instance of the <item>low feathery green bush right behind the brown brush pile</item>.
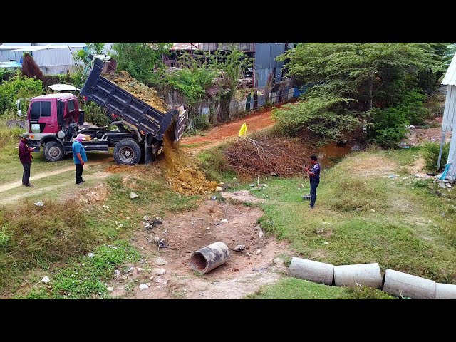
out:
{"label": "low feathery green bush right behind the brown brush pile", "polygon": [[343,98],[309,98],[273,110],[279,131],[285,135],[308,132],[321,140],[341,139],[361,126],[353,113],[343,109]]}

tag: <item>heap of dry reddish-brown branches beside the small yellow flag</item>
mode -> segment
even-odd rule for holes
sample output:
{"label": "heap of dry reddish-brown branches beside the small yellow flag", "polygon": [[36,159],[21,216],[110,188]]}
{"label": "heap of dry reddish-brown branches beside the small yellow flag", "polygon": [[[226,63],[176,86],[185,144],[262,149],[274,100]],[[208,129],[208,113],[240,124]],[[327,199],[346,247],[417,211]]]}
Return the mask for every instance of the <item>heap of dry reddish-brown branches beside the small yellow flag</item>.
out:
{"label": "heap of dry reddish-brown branches beside the small yellow flag", "polygon": [[237,140],[224,154],[233,170],[242,177],[302,174],[312,150],[299,139],[261,138]]}

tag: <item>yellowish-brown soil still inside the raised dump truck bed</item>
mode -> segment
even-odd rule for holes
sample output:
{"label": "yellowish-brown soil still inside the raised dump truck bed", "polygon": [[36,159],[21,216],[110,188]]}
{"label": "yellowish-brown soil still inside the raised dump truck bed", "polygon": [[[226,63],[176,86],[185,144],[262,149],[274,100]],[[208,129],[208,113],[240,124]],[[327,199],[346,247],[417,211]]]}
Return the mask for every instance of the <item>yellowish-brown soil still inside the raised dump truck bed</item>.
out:
{"label": "yellowish-brown soil still inside the raised dump truck bed", "polygon": [[153,108],[157,108],[157,110],[162,112],[167,111],[166,103],[158,97],[155,89],[147,87],[145,84],[135,80],[127,71],[122,70],[118,71],[118,73],[106,73],[103,77],[115,83],[120,88],[127,90],[128,93],[132,93],[145,103],[152,105]]}

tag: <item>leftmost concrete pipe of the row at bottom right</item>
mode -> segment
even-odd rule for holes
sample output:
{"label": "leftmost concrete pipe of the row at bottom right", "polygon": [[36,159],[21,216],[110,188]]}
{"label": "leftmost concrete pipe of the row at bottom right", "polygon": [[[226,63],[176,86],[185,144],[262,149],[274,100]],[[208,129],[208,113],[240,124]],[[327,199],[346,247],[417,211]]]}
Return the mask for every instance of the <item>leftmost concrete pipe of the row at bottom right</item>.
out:
{"label": "leftmost concrete pipe of the row at bottom right", "polygon": [[314,281],[319,284],[332,285],[334,266],[323,262],[301,258],[291,259],[289,275],[299,279]]}

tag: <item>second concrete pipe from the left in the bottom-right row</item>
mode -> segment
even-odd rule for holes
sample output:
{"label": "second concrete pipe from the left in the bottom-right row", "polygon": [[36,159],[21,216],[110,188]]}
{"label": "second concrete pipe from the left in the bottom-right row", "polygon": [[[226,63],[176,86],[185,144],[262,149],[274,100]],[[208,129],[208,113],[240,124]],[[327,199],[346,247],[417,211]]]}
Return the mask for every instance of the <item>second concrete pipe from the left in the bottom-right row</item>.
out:
{"label": "second concrete pipe from the left in the bottom-right row", "polygon": [[356,283],[381,289],[380,266],[377,263],[334,266],[334,284],[336,286],[356,286]]}

